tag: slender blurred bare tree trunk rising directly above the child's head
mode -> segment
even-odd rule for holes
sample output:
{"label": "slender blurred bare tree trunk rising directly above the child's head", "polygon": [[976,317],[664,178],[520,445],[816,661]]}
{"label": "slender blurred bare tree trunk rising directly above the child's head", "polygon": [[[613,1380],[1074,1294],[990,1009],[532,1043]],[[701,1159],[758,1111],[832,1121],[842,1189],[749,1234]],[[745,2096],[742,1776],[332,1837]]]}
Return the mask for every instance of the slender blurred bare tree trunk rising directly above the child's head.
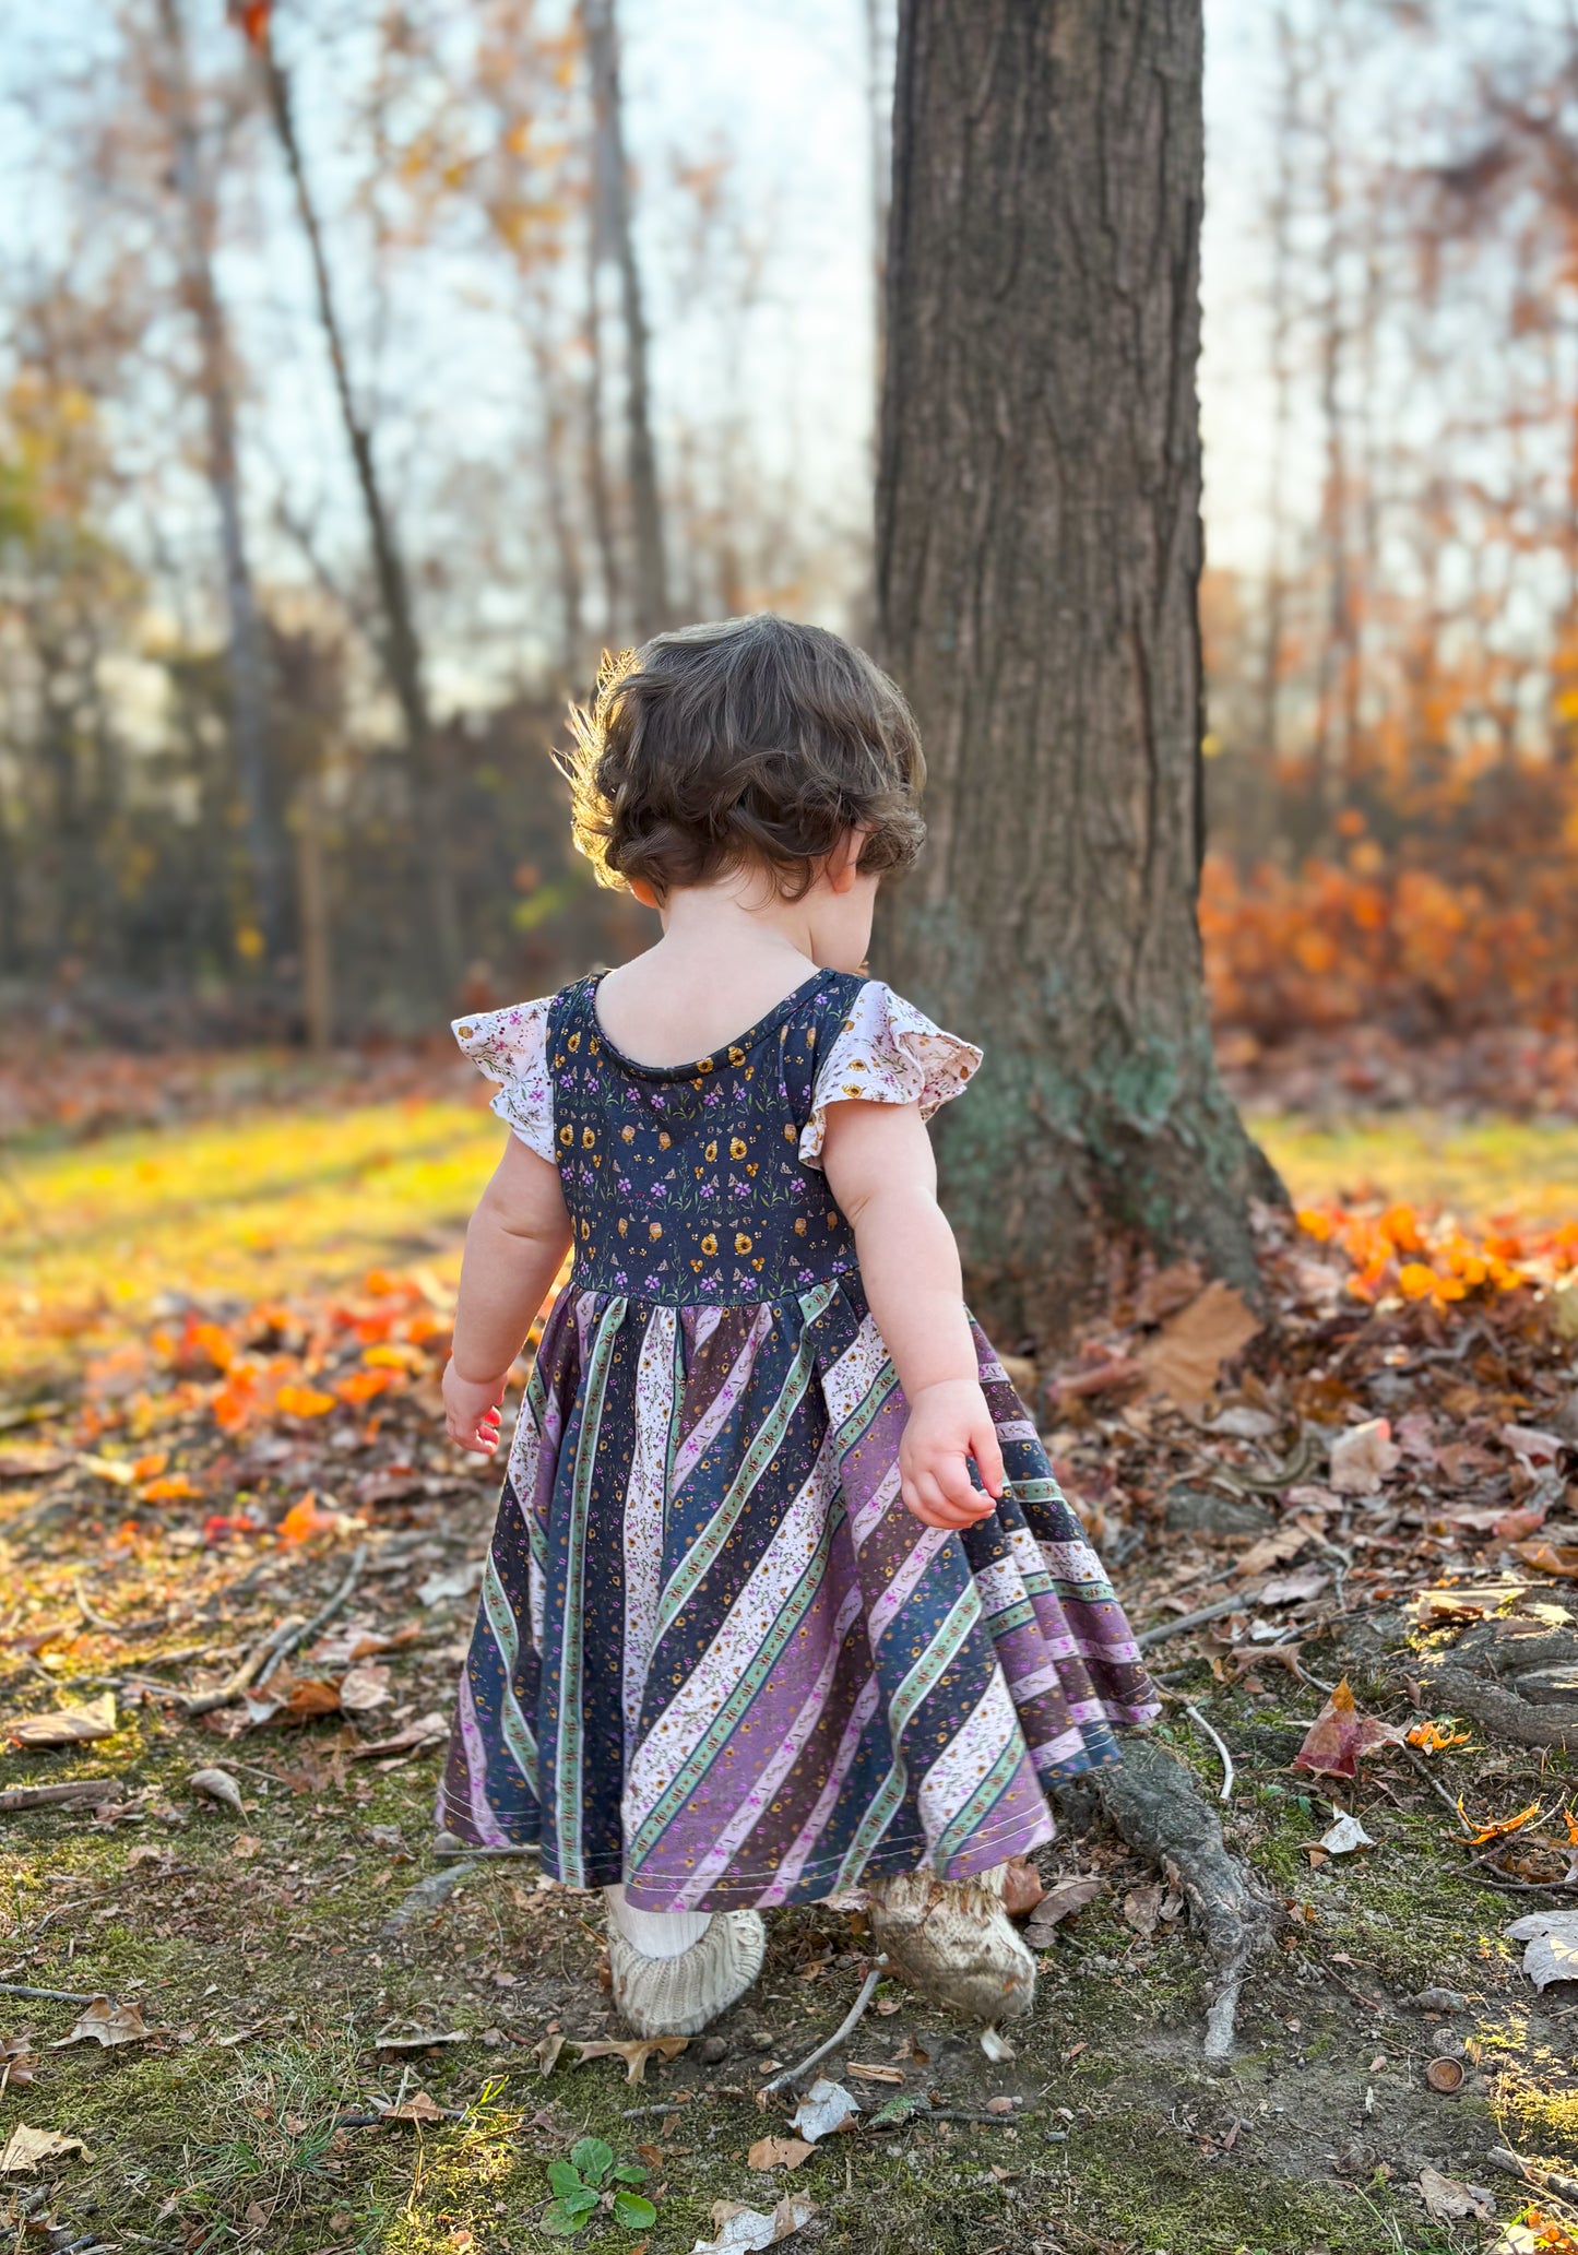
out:
{"label": "slender blurred bare tree trunk rising directly above the child's head", "polygon": [[[651,444],[651,392],[647,379],[647,309],[640,286],[640,262],[631,228],[629,162],[624,156],[624,115],[620,101],[620,36],[613,0],[582,0],[582,32],[593,88],[593,275],[609,257],[620,277],[624,316],[624,417],[631,516],[636,521],[636,638],[645,640],[670,625],[667,557],[663,541],[663,503],[658,498],[658,465]],[[597,320],[593,286],[593,325]],[[597,338],[593,336],[593,354]],[[597,365],[597,363],[593,363]],[[600,413],[593,413],[600,424]],[[600,444],[600,428],[595,442]],[[593,465],[593,476],[597,467]]]}

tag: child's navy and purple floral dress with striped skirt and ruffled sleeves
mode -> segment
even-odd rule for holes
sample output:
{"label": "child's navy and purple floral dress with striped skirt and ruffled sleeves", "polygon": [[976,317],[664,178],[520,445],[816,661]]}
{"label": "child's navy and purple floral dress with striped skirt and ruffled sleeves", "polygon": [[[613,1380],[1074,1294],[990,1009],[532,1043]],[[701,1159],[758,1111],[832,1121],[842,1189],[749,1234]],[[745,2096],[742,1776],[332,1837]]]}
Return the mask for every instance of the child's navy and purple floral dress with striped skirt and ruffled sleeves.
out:
{"label": "child's navy and purple floral dress with striped skirt and ruffled sleeves", "polygon": [[509,1450],[440,1822],[642,1910],[965,1878],[1156,1714],[1129,1626],[976,1328],[1012,1495],[899,1500],[906,1405],[821,1170],[827,1105],[956,1096],[981,1053],[818,972],[694,1064],[597,981],[458,1024],[559,1168],[575,1267]]}

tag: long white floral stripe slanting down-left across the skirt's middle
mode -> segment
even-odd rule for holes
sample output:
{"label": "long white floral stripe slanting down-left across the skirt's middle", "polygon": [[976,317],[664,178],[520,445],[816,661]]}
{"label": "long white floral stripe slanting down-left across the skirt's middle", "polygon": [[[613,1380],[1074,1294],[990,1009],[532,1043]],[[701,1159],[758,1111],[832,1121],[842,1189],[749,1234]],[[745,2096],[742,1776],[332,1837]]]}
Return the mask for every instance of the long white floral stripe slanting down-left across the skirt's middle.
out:
{"label": "long white floral stripe slanting down-left across the skirt's middle", "polygon": [[636,1838],[690,1761],[751,1660],[766,1644],[784,1603],[805,1581],[836,1493],[839,1461],[823,1450],[706,1653],[636,1748],[624,1772],[627,1840]]}

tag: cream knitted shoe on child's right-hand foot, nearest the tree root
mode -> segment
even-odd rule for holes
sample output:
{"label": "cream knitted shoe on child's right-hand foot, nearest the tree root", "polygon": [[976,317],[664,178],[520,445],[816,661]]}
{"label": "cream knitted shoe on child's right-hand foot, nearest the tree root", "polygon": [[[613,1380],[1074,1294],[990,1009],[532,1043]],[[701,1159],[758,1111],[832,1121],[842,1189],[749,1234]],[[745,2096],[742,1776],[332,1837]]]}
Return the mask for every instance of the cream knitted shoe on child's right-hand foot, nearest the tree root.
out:
{"label": "cream knitted shoe on child's right-hand foot, nearest the tree root", "polygon": [[870,1933],[904,1980],[983,2027],[1035,2005],[1035,1957],[1003,1910],[1003,1867],[870,1878]]}

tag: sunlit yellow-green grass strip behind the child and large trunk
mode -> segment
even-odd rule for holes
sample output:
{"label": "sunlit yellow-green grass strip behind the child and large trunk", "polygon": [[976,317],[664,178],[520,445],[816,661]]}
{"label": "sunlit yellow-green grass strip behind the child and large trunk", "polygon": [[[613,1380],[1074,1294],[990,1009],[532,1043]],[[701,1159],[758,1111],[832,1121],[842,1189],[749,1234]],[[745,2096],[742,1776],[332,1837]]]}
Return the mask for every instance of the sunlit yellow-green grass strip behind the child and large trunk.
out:
{"label": "sunlit yellow-green grass strip behind the child and large trunk", "polygon": [[[1386,1195],[1463,1222],[1578,1213],[1578,1128],[1422,1114],[1328,1130],[1256,1116],[1294,1197]],[[0,1170],[0,1385],[160,1297],[331,1290],[379,1263],[451,1281],[503,1130],[462,1103],[259,1112],[23,1150]]]}

